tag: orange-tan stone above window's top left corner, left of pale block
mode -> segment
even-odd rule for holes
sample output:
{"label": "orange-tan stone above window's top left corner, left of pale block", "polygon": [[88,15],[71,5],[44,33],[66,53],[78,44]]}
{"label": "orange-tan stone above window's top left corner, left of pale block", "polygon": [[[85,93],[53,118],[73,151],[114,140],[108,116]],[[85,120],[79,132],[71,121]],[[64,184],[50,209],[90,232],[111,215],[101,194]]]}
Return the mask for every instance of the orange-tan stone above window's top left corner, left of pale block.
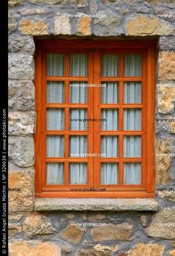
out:
{"label": "orange-tan stone above window's top left corner, left of pale block", "polygon": [[47,35],[48,24],[42,20],[22,19],[19,22],[19,30],[22,34]]}

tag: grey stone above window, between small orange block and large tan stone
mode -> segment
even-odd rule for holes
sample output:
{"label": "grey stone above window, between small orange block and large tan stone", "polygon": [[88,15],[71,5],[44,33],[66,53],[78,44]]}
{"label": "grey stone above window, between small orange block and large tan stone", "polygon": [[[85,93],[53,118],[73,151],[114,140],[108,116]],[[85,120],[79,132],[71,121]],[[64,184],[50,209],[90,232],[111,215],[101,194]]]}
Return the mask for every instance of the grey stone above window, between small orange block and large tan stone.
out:
{"label": "grey stone above window, between small orange block and large tan stone", "polygon": [[[106,29],[105,29],[106,28]],[[121,16],[109,10],[101,10],[95,14],[92,34],[97,36],[114,36],[124,33]]]}

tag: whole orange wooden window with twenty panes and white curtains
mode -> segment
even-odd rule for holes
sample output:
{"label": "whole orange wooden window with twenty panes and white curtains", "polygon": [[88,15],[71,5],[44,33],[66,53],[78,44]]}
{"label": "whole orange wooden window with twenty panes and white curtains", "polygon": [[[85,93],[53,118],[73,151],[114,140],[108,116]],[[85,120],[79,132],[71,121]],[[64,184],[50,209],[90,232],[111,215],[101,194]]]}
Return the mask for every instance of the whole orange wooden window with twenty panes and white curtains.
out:
{"label": "whole orange wooden window with twenty panes and white curtains", "polygon": [[154,196],[153,41],[36,41],[36,197]]}

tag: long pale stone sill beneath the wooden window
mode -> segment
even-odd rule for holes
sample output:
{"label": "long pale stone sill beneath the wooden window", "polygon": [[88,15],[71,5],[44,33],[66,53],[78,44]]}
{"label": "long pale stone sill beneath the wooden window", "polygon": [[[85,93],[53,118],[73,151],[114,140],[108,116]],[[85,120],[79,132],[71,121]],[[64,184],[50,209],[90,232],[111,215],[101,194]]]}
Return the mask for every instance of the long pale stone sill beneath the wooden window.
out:
{"label": "long pale stone sill beneath the wooden window", "polygon": [[35,210],[156,211],[154,198],[36,198]]}

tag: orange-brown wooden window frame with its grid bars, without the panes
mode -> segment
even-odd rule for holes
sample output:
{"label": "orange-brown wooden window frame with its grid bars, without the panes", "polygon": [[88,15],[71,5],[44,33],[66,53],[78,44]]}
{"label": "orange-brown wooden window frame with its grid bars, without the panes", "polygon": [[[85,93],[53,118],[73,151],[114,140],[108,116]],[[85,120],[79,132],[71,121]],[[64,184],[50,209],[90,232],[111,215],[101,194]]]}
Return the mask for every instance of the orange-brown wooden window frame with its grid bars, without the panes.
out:
{"label": "orange-brown wooden window frame with its grid bars, without the panes", "polygon": [[[106,48],[107,46],[107,48]],[[155,113],[155,48],[156,44],[153,40],[133,40],[133,41],[115,41],[115,40],[36,40],[36,55],[35,55],[35,88],[36,88],[36,133],[34,135],[35,141],[35,190],[36,190],[36,198],[153,198],[154,194],[154,180],[155,180],[155,170],[154,170],[154,113]],[[72,52],[88,52],[88,69],[90,70],[90,76],[87,77],[72,77],[70,79],[69,76],[69,60],[68,53]],[[93,54],[93,52],[95,53]],[[45,78],[45,54],[47,53],[55,53],[55,52],[64,52],[66,53],[66,70],[64,77],[52,77]],[[141,81],[142,82],[142,103],[138,105],[139,108],[142,109],[144,113],[144,118],[142,118],[142,132],[100,132],[98,124],[92,124],[89,122],[88,131],[77,131],[70,132],[69,131],[69,119],[66,115],[66,131],[57,131],[57,132],[47,132],[47,134],[57,134],[57,135],[65,135],[65,158],[69,158],[69,134],[77,134],[77,135],[88,135],[89,141],[93,143],[88,144],[88,152],[93,153],[93,144],[95,144],[95,153],[100,153],[100,136],[101,134],[111,135],[120,135],[120,143],[122,142],[122,138],[124,134],[132,135],[141,135],[143,138],[143,143],[141,145],[141,149],[143,152],[143,163],[144,163],[144,171],[142,172],[141,185],[124,185],[124,186],[112,186],[112,185],[101,185],[100,187],[105,187],[109,189],[109,191],[101,191],[101,192],[72,192],[70,191],[70,186],[63,185],[45,185],[45,136],[43,135],[45,130],[45,115],[43,115],[43,108],[45,109],[45,96],[46,96],[46,80],[50,81],[65,81],[66,85],[66,102],[65,104],[61,104],[65,108],[66,112],[69,112],[69,107],[87,107],[88,105],[88,116],[92,118],[100,118],[100,109],[105,108],[105,105],[99,107],[101,105],[100,98],[100,90],[101,88],[88,88],[88,99],[89,103],[86,104],[69,104],[69,81],[87,81],[89,84],[99,84],[101,81],[105,82],[105,80],[109,81],[109,78],[103,78],[100,76],[100,52],[117,52],[120,55],[120,65],[119,65],[119,76],[118,78],[111,78],[115,82],[119,82],[119,103],[123,100],[123,88],[124,81]],[[124,77],[124,54],[126,53],[141,53],[142,55],[142,77]],[[94,64],[94,67],[93,65]],[[122,77],[121,77],[122,76]],[[110,80],[112,81],[112,80]],[[144,94],[143,94],[144,88]],[[93,106],[93,103],[94,106]],[[123,108],[133,107],[133,104],[116,104],[119,109],[119,124],[123,124],[121,112]],[[68,106],[69,104],[69,106]],[[58,106],[59,104],[57,104]],[[126,106],[127,105],[127,106]],[[53,107],[54,104],[48,104],[48,107]],[[56,107],[57,107],[56,106]],[[116,107],[115,106],[115,107]],[[106,107],[109,107],[107,104]],[[114,107],[113,104],[111,107]],[[136,104],[134,105],[136,107]],[[142,113],[142,115],[143,115]],[[97,140],[98,138],[98,140]],[[123,144],[121,143],[121,147],[119,148],[119,157],[113,159],[103,160],[102,162],[118,162],[120,160],[120,168],[119,168],[119,182],[122,183],[122,165],[126,159],[121,158],[121,152],[123,151]],[[48,161],[52,161],[50,159]],[[54,159],[55,160],[55,159]],[[69,159],[65,165],[66,171],[66,183],[69,183],[68,180],[68,171],[69,171],[69,162],[89,162],[89,172],[88,172],[88,180],[90,187],[99,187],[99,175],[100,175],[100,160],[99,157],[94,157],[94,166],[98,166],[97,170],[93,172],[93,162],[92,158],[88,157],[87,159]],[[137,159],[127,159],[127,162],[136,162]],[[63,159],[57,159],[57,162],[63,162]],[[93,183],[94,180],[94,183]],[[71,185],[71,188],[84,188],[88,187],[88,185]],[[69,189],[69,190],[68,190]]]}

